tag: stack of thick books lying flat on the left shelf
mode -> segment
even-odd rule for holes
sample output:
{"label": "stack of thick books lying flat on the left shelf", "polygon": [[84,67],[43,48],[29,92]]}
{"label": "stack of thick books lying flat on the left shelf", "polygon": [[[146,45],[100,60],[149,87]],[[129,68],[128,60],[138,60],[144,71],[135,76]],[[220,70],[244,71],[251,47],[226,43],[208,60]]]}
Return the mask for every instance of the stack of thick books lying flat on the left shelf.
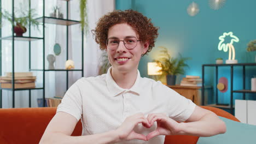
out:
{"label": "stack of thick books lying flat on the left shelf", "polygon": [[[12,73],[5,73],[0,77],[1,88],[12,88]],[[14,88],[34,88],[36,87],[36,76],[32,72],[14,73]]]}

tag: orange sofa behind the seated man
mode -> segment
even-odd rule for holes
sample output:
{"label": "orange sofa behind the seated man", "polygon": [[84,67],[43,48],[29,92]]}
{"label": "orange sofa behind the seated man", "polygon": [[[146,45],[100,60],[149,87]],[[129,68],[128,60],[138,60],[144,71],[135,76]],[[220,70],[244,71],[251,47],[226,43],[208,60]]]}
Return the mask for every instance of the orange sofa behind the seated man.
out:
{"label": "orange sofa behind the seated man", "polygon": [[[216,113],[218,116],[238,121],[230,113],[216,107],[201,106]],[[0,143],[38,143],[56,107],[0,109]],[[65,121],[65,120],[63,120]],[[73,136],[82,134],[82,123],[77,123]],[[199,137],[187,135],[166,136],[165,144],[196,143]]]}

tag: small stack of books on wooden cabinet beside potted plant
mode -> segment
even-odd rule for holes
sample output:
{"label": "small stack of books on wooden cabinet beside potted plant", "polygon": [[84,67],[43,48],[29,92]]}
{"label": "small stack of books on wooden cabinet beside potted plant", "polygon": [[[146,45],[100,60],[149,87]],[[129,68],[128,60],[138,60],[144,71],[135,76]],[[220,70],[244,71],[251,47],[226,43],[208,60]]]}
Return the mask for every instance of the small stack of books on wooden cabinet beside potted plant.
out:
{"label": "small stack of books on wooden cabinet beside potted plant", "polygon": [[181,86],[202,86],[202,79],[200,76],[186,75],[181,81]]}

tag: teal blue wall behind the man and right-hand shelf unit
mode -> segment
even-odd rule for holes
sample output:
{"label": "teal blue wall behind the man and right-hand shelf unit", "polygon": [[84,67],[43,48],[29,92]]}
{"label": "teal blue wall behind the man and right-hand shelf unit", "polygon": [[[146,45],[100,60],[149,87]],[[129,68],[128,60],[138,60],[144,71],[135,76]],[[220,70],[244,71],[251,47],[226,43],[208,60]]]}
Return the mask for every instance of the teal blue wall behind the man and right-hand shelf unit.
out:
{"label": "teal blue wall behind the man and right-hand shelf unit", "polygon": [[[208,1],[194,0],[199,5],[199,13],[191,17],[187,13],[187,8],[193,1],[173,1],[173,0],[116,0],[116,8],[134,9],[151,18],[154,25],[160,27],[159,37],[155,47],[148,56],[144,56],[139,64],[141,75],[147,75],[147,62],[151,62],[157,53],[158,46],[165,46],[170,51],[171,56],[176,57],[181,53],[183,57],[191,57],[188,61],[189,68],[186,68],[186,75],[202,74],[201,65],[215,63],[217,57],[228,59],[228,52],[218,51],[218,37],[224,32],[233,32],[240,41],[234,43],[236,49],[236,59],[238,63],[255,62],[256,52],[246,52],[249,41],[256,39],[256,1],[252,0],[232,0],[226,1],[224,7],[213,10],[209,7]],[[256,75],[256,68],[246,69],[246,87],[251,88],[251,77]],[[214,69],[206,70],[207,82],[214,80]],[[220,69],[219,77],[230,78],[230,69]],[[235,68],[234,89],[241,89],[242,69]],[[183,77],[183,76],[181,76]],[[216,85],[216,83],[212,83]],[[229,103],[228,93],[219,95],[221,103]],[[226,96],[228,95],[228,96]],[[247,94],[248,97],[256,94]],[[241,97],[241,94],[235,94]],[[250,99],[251,99],[250,98]]]}

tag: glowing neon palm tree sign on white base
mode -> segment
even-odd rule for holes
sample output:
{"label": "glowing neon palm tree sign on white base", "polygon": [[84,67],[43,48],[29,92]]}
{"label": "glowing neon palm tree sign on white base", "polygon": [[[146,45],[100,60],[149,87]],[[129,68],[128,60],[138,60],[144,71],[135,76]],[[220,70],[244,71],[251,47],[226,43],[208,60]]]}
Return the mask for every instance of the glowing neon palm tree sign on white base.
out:
{"label": "glowing neon palm tree sign on white base", "polygon": [[[232,39],[230,40],[230,43],[223,43],[225,41],[225,38],[227,36],[230,36]],[[219,37],[219,44],[218,44],[218,50],[219,51],[224,51],[227,52],[229,50],[229,59],[226,60],[226,63],[237,63],[237,60],[235,59],[235,47],[233,45],[234,42],[238,43],[239,39],[233,35],[232,32],[229,33],[223,33],[222,36]],[[232,59],[231,59],[231,55],[232,55]]]}

